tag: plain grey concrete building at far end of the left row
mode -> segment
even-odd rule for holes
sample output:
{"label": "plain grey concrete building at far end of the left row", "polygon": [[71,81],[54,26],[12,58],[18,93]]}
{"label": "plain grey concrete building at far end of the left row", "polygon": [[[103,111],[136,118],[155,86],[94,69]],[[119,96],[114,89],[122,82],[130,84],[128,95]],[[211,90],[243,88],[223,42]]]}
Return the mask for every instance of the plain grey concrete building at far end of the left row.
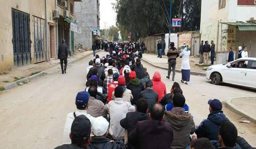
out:
{"label": "plain grey concrete building at far end of the left row", "polygon": [[75,3],[75,16],[82,31],[77,34],[77,42],[85,48],[91,48],[100,36],[99,0],[82,0],[82,3]]}

